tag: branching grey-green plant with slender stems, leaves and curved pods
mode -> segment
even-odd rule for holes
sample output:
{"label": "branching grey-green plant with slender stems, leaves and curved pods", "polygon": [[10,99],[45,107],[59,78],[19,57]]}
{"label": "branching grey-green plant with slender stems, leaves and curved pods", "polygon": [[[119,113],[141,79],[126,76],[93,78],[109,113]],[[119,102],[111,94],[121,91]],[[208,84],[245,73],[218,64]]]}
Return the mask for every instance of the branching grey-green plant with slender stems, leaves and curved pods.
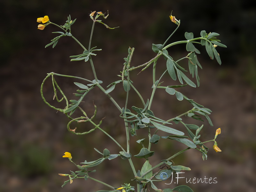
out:
{"label": "branching grey-green plant with slender stems, leaves and curved pods", "polygon": [[[94,14],[96,14],[96,16]],[[217,62],[219,64],[221,64],[220,56],[215,47],[216,47],[216,45],[218,45],[220,47],[226,47],[226,46],[221,44],[220,40],[218,40],[216,38],[216,36],[219,36],[219,34],[217,34],[217,33],[207,34],[205,31],[201,31],[200,37],[196,37],[196,38],[194,37],[193,33],[186,32],[185,33],[186,40],[177,41],[177,42],[173,42],[173,43],[165,45],[167,43],[167,41],[170,39],[170,37],[173,35],[173,33],[180,26],[180,20],[178,21],[175,17],[170,16],[170,18],[172,19],[172,22],[176,23],[178,25],[178,27],[174,30],[174,32],[170,35],[170,37],[165,41],[164,44],[153,44],[152,45],[152,50],[153,50],[153,52],[156,53],[156,56],[144,64],[141,64],[139,66],[132,66],[131,61],[132,61],[132,55],[134,52],[134,48],[129,48],[128,56],[127,56],[127,58],[124,58],[124,61],[125,61],[124,65],[120,66],[120,70],[122,73],[122,75],[118,75],[120,77],[120,79],[111,83],[110,85],[108,85],[109,88],[107,90],[105,90],[105,88],[103,88],[100,85],[102,83],[102,81],[100,81],[97,78],[96,71],[95,71],[94,65],[92,63],[92,56],[96,56],[96,54],[93,52],[100,51],[101,49],[95,49],[96,47],[90,48],[90,46],[91,46],[92,34],[93,34],[95,22],[99,22],[109,29],[113,29],[113,28],[108,27],[101,20],[97,20],[100,16],[102,16],[104,19],[106,19],[108,15],[104,16],[104,14],[102,12],[97,12],[97,13],[92,12],[90,14],[90,18],[93,20],[93,26],[92,26],[92,32],[91,32],[91,36],[90,36],[88,49],[86,49],[84,47],[84,45],[82,45],[71,34],[71,25],[74,24],[75,20],[74,21],[71,20],[70,16],[68,17],[67,22],[63,26],[59,26],[52,22],[49,23],[49,24],[54,24],[55,26],[61,28],[64,32],[53,32],[53,33],[59,33],[60,36],[55,37],[52,40],[52,42],[50,44],[47,44],[45,47],[53,44],[53,48],[54,48],[55,45],[57,44],[58,40],[60,39],[60,37],[64,37],[64,36],[72,37],[83,48],[83,51],[81,51],[82,52],[81,54],[78,54],[75,56],[70,56],[72,58],[71,61],[80,61],[80,60],[84,60],[85,62],[89,61],[91,64],[91,67],[92,67],[92,73],[94,75],[94,79],[88,80],[88,79],[84,79],[81,77],[61,75],[61,74],[56,74],[56,73],[52,72],[46,76],[46,78],[44,79],[44,81],[42,83],[41,95],[42,95],[44,102],[48,106],[50,106],[51,108],[54,108],[60,112],[63,112],[66,116],[68,116],[69,119],[71,119],[67,125],[69,132],[72,132],[74,134],[89,134],[92,131],[100,130],[101,132],[105,133],[111,140],[113,140],[116,143],[116,145],[120,147],[121,151],[118,154],[111,154],[111,152],[108,149],[104,149],[103,152],[100,152],[98,149],[94,148],[100,154],[99,159],[90,161],[90,162],[87,162],[85,160],[83,163],[81,163],[82,165],[75,164],[71,160],[71,158],[69,158],[69,160],[76,165],[76,167],[78,168],[78,171],[76,171],[76,172],[71,171],[71,174],[60,174],[62,176],[69,177],[69,180],[65,181],[63,186],[66,185],[68,182],[72,183],[73,179],[84,178],[85,180],[92,179],[94,181],[97,181],[111,189],[111,190],[101,190],[101,192],[116,191],[116,189],[117,189],[116,187],[112,187],[111,185],[109,185],[107,183],[104,183],[102,181],[99,181],[99,180],[96,180],[96,179],[90,177],[90,172],[96,171],[96,170],[90,170],[90,168],[103,163],[105,160],[112,160],[114,158],[121,157],[122,159],[126,159],[127,161],[129,161],[129,163],[131,165],[131,171],[134,174],[134,178],[130,178],[130,180],[133,180],[132,183],[134,185],[137,185],[138,192],[139,191],[140,192],[147,191],[150,186],[155,191],[191,192],[192,189],[189,188],[188,186],[177,186],[173,189],[166,188],[166,189],[162,190],[162,189],[158,189],[155,185],[156,182],[163,180],[163,178],[161,176],[162,173],[165,174],[164,179],[167,179],[171,176],[171,174],[173,172],[190,171],[191,170],[189,167],[185,167],[183,165],[172,165],[172,162],[170,162],[170,160],[172,158],[180,155],[182,152],[184,152],[190,148],[196,148],[197,151],[202,153],[203,160],[207,159],[206,153],[207,153],[208,148],[206,146],[204,146],[204,143],[209,142],[209,141],[201,142],[199,140],[199,138],[200,138],[199,132],[202,131],[203,125],[201,125],[199,127],[198,125],[195,125],[195,124],[186,124],[183,122],[183,119],[181,117],[188,116],[188,117],[194,118],[196,120],[200,120],[200,121],[204,121],[204,119],[206,119],[208,121],[208,123],[211,126],[213,126],[212,121],[209,117],[209,115],[211,114],[212,111],[210,109],[204,108],[204,106],[196,103],[193,99],[189,99],[183,93],[176,91],[176,88],[184,87],[187,85],[191,86],[191,87],[196,87],[196,84],[197,84],[197,86],[199,86],[198,67],[202,69],[202,66],[197,59],[197,55],[200,54],[200,52],[195,47],[195,44],[197,44],[196,46],[199,46],[200,44],[205,46],[206,52],[209,55],[209,57],[211,59],[214,59],[214,57],[215,57],[215,59],[217,60]],[[172,22],[170,22],[170,24],[172,24]],[[188,51],[188,54],[185,55],[183,58],[180,58],[179,60],[173,60],[172,56],[170,56],[167,51],[167,49],[169,47],[176,45],[176,44],[186,44],[186,50]],[[165,71],[161,72],[162,75],[160,77],[157,77],[156,76],[156,66],[158,64],[157,62],[160,57],[164,57],[164,59],[166,60],[166,69],[165,69]],[[188,59],[188,66],[181,66],[181,64],[179,64],[179,62],[184,59]],[[143,71],[150,66],[152,67],[151,64],[153,64],[152,94],[151,94],[150,98],[144,99],[140,94],[140,91],[143,92],[144,90],[137,90],[134,87],[129,74],[133,70],[136,70],[138,68],[142,68],[141,71]],[[118,66],[116,66],[116,67],[118,67]],[[189,70],[189,73],[192,75],[192,77],[193,78],[194,78],[194,76],[196,77],[196,84],[190,78],[188,78],[187,75],[185,75],[188,73],[187,68]],[[168,73],[166,73],[166,72],[168,72]],[[138,72],[136,72],[136,73],[138,73]],[[168,74],[170,76],[170,80],[176,81],[178,85],[168,85],[168,84],[162,85],[162,84],[164,84],[163,82],[161,82],[162,77],[164,75],[168,75]],[[59,85],[55,81],[54,76],[56,76],[56,75],[57,76],[65,76],[65,77],[69,77],[69,78],[76,78],[76,79],[80,79],[80,80],[84,81],[84,83],[74,82],[74,84],[79,88],[78,90],[76,90],[77,93],[74,93],[74,95],[78,98],[77,100],[68,100],[67,99],[64,92],[62,92]],[[65,108],[55,108],[54,106],[50,105],[44,98],[43,86],[44,86],[44,83],[47,80],[47,78],[50,76],[52,77],[54,99],[56,98],[56,100],[58,102],[65,101],[66,102]],[[104,80],[104,79],[102,79],[102,80]],[[119,84],[119,83],[123,84],[123,88],[124,88],[123,91],[126,93],[126,100],[125,100],[125,103],[123,106],[119,106],[116,103],[116,101],[109,95],[109,93],[114,91],[115,88],[117,87],[116,84]],[[114,103],[114,105],[116,106],[116,109],[120,111],[120,117],[116,117],[116,118],[124,119],[124,129],[125,129],[126,140],[127,140],[126,149],[124,149],[117,142],[117,140],[115,138],[110,136],[107,132],[105,132],[100,127],[100,124],[102,121],[100,121],[99,123],[93,122],[93,118],[97,115],[97,107],[96,106],[94,106],[95,112],[92,117],[88,117],[86,112],[79,106],[80,103],[82,101],[84,101],[84,97],[86,97],[86,94],[96,87],[99,88],[99,90],[102,91]],[[138,96],[141,100],[141,104],[140,104],[141,108],[136,107],[136,106],[132,106],[131,109],[127,108],[127,103],[129,100],[129,91],[131,89],[133,89],[138,94]],[[175,95],[178,100],[177,102],[180,102],[181,100],[188,101],[191,104],[191,109],[182,114],[178,114],[177,116],[170,118],[168,120],[163,120],[161,117],[158,117],[157,115],[155,115],[153,113],[152,110],[150,110],[154,95],[157,94],[158,89],[164,89],[166,91],[166,94],[170,94],[170,97]],[[56,90],[59,90],[59,92],[63,96],[62,99],[60,99],[60,100],[58,99]],[[73,117],[73,113],[76,111],[76,109],[78,109],[80,112],[82,112],[83,116]],[[73,130],[70,129],[70,125],[73,122],[91,123],[94,126],[94,128],[92,128],[90,131],[79,133],[79,132],[76,132],[76,128]],[[175,123],[175,124],[178,124],[178,123],[183,124],[185,127],[184,131],[177,130],[175,128],[175,124],[172,124],[171,122]],[[143,144],[143,142],[146,141],[145,138],[143,138],[143,139],[139,138],[139,140],[137,140],[137,143],[130,143],[130,139],[129,139],[130,136],[136,136],[137,135],[136,132],[139,132],[140,129],[148,130],[148,135],[145,135],[145,138],[148,138],[148,142],[146,142],[148,144],[147,147],[145,147]],[[164,132],[169,133],[171,135],[163,136],[162,134]],[[166,139],[168,139],[168,140],[166,140]],[[210,141],[214,141],[216,143],[215,139],[216,139],[216,137],[214,138],[214,140],[210,140]],[[156,164],[152,167],[152,165],[150,164],[150,157],[153,156],[154,154],[156,154],[157,151],[151,151],[150,150],[151,145],[152,144],[156,145],[158,142],[176,142],[176,141],[183,143],[185,149],[174,154],[173,156],[167,155],[166,159],[160,161],[159,164]],[[141,148],[140,152],[137,155],[135,155],[133,151],[130,151],[130,145],[138,145],[138,144],[141,144],[142,148]],[[90,146],[86,146],[86,147],[90,147]],[[196,152],[196,150],[194,150],[194,152]],[[170,154],[170,152],[169,152],[169,154]],[[173,154],[173,152],[171,152],[171,154]],[[145,158],[145,163],[143,164],[143,166],[140,170],[135,170],[134,164],[136,162],[134,159],[133,160],[131,159],[132,156],[137,157],[137,158]],[[179,164],[179,162],[177,162],[177,164]],[[164,165],[165,169],[162,169],[162,170],[159,169],[158,167],[161,165]],[[153,178],[155,178],[156,180],[153,180]],[[113,178],[113,179],[116,180],[118,178]],[[116,181],[115,181],[115,183],[116,183]],[[123,191],[124,190],[126,192],[135,191],[135,188],[133,186],[131,186],[130,183],[129,184],[125,183],[124,185],[121,185],[121,183],[120,183],[120,186],[122,186],[122,187],[119,189],[122,189]],[[100,192],[100,191],[98,191],[98,192]]]}

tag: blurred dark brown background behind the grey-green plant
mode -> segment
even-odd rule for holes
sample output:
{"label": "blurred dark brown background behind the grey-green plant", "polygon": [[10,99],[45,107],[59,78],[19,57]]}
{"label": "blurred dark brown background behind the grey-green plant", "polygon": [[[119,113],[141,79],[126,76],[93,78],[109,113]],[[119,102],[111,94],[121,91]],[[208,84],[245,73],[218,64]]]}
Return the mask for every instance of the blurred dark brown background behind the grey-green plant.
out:
{"label": "blurred dark brown background behind the grey-green plant", "polygon": [[[61,188],[65,177],[58,173],[68,173],[76,170],[68,159],[62,158],[64,152],[72,153],[77,164],[100,158],[93,150],[100,151],[108,148],[111,153],[118,153],[119,149],[102,132],[96,130],[90,135],[76,136],[66,129],[68,119],[60,112],[44,104],[40,95],[40,85],[46,73],[56,72],[65,75],[81,76],[93,79],[89,63],[70,62],[70,55],[81,53],[81,48],[71,38],[61,38],[57,46],[46,49],[44,46],[59,29],[48,25],[43,31],[37,29],[39,23],[36,18],[48,15],[54,23],[63,25],[70,14],[72,19],[77,18],[72,26],[72,34],[84,45],[88,44],[92,21],[89,18],[91,11],[109,12],[105,21],[110,27],[119,26],[109,30],[97,24],[93,34],[92,46],[101,48],[93,62],[96,66],[98,78],[106,87],[118,80],[116,74],[123,68],[124,57],[127,57],[128,47],[135,47],[133,66],[140,65],[152,59],[156,54],[151,50],[152,43],[163,44],[165,39],[176,28],[170,22],[169,15],[181,20],[181,26],[172,41],[184,40],[186,31],[199,36],[201,30],[217,32],[221,43],[228,48],[217,48],[220,53],[222,65],[216,60],[210,60],[204,47],[197,45],[201,54],[198,55],[203,70],[199,70],[200,87],[185,87],[180,89],[188,98],[212,109],[211,127],[204,122],[202,137],[210,140],[215,130],[221,127],[218,136],[218,146],[222,152],[216,153],[210,148],[208,160],[203,161],[201,154],[189,150],[174,159],[175,165],[184,165],[192,169],[186,172],[189,178],[216,177],[217,184],[188,184],[196,191],[247,191],[254,192],[256,188],[256,63],[255,63],[255,28],[256,7],[254,1],[58,1],[58,0],[5,0],[1,1],[0,12],[2,22],[0,28],[0,191],[14,192],[51,192],[51,191],[97,191],[108,189],[92,181],[83,179],[74,180],[70,185]],[[184,57],[187,52],[184,44],[168,50],[173,58]],[[162,65],[162,66],[161,66]],[[184,62],[187,67],[187,61]],[[158,75],[165,68],[164,61],[158,62]],[[152,67],[140,73],[135,71],[131,78],[135,87],[142,91],[144,99],[150,97],[152,86]],[[171,78],[164,77],[166,84]],[[73,79],[56,77],[60,87],[70,92],[69,100],[76,99],[71,93],[77,87]],[[48,101],[52,100],[53,90],[51,82],[45,84],[44,94]],[[131,93],[132,94],[132,93]],[[116,86],[115,93],[111,95],[120,106],[124,105],[125,92],[121,84]],[[141,107],[137,97],[131,98],[130,105]],[[98,107],[96,122],[103,117],[102,128],[125,145],[124,124],[116,118],[119,112],[115,106],[99,90],[93,89],[83,103],[89,115],[93,113],[93,102]],[[51,101],[52,102],[52,101]],[[59,104],[57,104],[59,105]],[[178,102],[171,96],[159,90],[155,96],[152,110],[155,115],[163,119],[175,117],[191,106],[187,102]],[[187,119],[186,123],[202,122]],[[76,126],[75,124],[72,126]],[[172,125],[183,130],[179,124]],[[78,131],[87,130],[88,124],[80,125]],[[143,131],[138,131],[138,137],[132,138],[132,155],[140,150],[135,141],[145,138]],[[162,140],[152,147],[156,155],[151,158],[155,165],[159,160],[165,159],[184,145]],[[136,159],[134,159],[135,161]],[[138,160],[135,168],[138,170],[143,160]],[[104,161],[97,167],[92,177],[107,182],[115,187],[122,183],[129,183],[133,178],[126,161],[118,158]],[[168,181],[168,180],[167,180]],[[180,180],[179,184],[186,184]],[[135,186],[134,183],[132,183]],[[174,188],[159,184],[159,188]]]}

